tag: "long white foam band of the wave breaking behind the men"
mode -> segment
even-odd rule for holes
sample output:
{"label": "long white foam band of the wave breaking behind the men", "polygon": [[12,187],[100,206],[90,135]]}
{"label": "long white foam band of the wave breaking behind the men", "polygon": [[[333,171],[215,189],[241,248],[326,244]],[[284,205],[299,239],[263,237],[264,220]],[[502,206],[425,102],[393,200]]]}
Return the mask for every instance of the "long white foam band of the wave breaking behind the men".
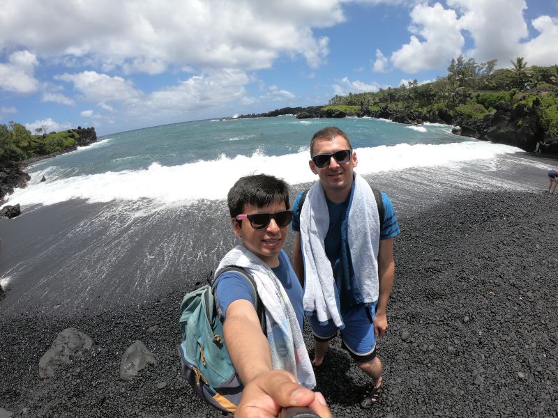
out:
{"label": "long white foam band of the wave breaking behind the men", "polygon": [[[355,151],[359,158],[356,171],[370,174],[412,167],[451,166],[521,150],[502,144],[464,141],[442,145],[398,144]],[[199,199],[225,199],[236,179],[252,173],[268,173],[292,185],[314,181],[316,177],[308,169],[308,159],[308,149],[304,149],[280,156],[264,155],[262,150],[257,150],[250,156],[221,155],[216,160],[172,167],[155,162],[148,169],[109,171],[30,184],[25,189],[17,189],[6,203],[30,206],[52,205],[70,199],[85,199],[91,203],[151,199],[156,206],[176,206]]]}

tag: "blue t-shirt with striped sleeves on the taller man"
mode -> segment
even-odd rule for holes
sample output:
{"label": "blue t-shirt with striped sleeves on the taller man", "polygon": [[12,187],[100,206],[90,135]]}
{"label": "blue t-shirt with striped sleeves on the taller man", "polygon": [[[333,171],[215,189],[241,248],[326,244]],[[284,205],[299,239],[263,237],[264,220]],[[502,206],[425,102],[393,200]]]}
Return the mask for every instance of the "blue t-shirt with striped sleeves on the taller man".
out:
{"label": "blue t-shirt with striped sleeves on the taller man", "polygon": [[[300,199],[303,192],[300,192],[292,206],[293,218],[291,227],[293,231],[300,232],[300,216],[301,210],[299,208]],[[341,309],[347,308],[347,303],[343,301],[351,300],[351,295],[347,294],[350,291],[342,286],[342,263],[341,263],[341,224],[345,212],[349,206],[349,199],[342,203],[333,203],[326,198],[327,208],[329,211],[329,229],[326,233],[326,238],[324,240],[324,247],[326,250],[326,256],[329,258],[331,263],[331,270],[333,271],[333,277],[335,278],[335,287],[337,288],[338,295],[340,297]],[[379,233],[380,240],[387,240],[389,238],[395,238],[399,235],[399,225],[397,222],[397,215],[395,215],[395,210],[393,209],[393,204],[389,199],[389,196],[382,192],[382,206],[384,207],[384,222],[382,224],[382,229]]]}

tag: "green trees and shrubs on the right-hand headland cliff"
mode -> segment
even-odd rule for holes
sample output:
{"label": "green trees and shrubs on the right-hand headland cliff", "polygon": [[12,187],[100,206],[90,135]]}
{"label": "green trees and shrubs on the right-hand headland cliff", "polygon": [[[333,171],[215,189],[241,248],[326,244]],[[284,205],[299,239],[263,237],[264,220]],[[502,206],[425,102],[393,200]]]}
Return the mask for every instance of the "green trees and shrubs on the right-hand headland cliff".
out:
{"label": "green trees and shrubs on the right-hand headland cliff", "polygon": [[[452,59],[448,75],[435,82],[418,85],[417,80],[398,88],[377,92],[335,95],[324,110],[340,110],[348,115],[363,111],[379,114],[416,114],[416,119],[431,120],[446,115],[482,120],[504,106],[515,108],[535,103],[543,131],[558,140],[558,65],[527,66],[522,57],[511,61],[511,68],[495,70],[497,61],[476,63],[462,56]],[[381,116],[384,117],[384,116]]]}

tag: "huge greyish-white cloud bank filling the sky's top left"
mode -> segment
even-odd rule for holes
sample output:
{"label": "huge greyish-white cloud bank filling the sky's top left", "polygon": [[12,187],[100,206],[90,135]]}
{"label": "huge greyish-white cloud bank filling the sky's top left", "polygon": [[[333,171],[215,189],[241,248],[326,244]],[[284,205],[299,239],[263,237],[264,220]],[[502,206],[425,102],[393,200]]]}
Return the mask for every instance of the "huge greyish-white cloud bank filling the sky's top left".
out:
{"label": "huge greyish-white cloud bank filling the sky's top left", "polygon": [[265,7],[258,0],[6,0],[2,12],[0,49],[22,46],[43,57],[93,60],[105,72],[119,67],[148,74],[169,65],[269,68],[280,54],[315,67],[327,56],[329,40],[315,37],[312,28],[345,20],[335,0]]}

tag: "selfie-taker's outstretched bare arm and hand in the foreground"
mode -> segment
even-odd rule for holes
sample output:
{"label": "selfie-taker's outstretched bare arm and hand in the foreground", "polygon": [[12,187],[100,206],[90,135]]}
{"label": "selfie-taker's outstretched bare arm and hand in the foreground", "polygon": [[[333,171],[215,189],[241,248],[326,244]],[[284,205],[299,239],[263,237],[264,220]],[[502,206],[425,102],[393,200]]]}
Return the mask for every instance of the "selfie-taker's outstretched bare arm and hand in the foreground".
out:
{"label": "selfie-taker's outstretched bare arm and hand in the foreground", "polygon": [[278,417],[281,408],[289,406],[310,406],[320,417],[332,417],[322,394],[299,385],[292,373],[273,370],[269,342],[250,301],[229,304],[223,328],[232,364],[244,385],[235,418]]}

